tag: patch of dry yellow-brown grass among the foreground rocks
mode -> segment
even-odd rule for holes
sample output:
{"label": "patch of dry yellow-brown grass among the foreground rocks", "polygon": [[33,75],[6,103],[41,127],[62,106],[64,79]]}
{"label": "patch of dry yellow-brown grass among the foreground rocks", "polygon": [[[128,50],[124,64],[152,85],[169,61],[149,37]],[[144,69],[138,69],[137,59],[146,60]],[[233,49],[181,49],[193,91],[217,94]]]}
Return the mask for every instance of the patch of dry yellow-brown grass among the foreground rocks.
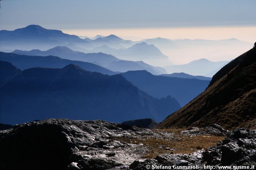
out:
{"label": "patch of dry yellow-brown grass among the foreground rocks", "polygon": [[[157,155],[173,152],[188,154],[196,150],[202,150],[211,146],[216,146],[219,141],[224,139],[224,136],[214,135],[198,135],[186,136],[181,134],[180,131],[184,129],[162,129],[154,131],[172,132],[173,138],[159,139],[155,137],[142,137],[142,138],[125,138],[125,137],[112,137],[114,140],[119,140],[132,144],[144,144],[148,148],[148,152],[142,158],[155,158]],[[170,150],[166,150],[170,148]]]}

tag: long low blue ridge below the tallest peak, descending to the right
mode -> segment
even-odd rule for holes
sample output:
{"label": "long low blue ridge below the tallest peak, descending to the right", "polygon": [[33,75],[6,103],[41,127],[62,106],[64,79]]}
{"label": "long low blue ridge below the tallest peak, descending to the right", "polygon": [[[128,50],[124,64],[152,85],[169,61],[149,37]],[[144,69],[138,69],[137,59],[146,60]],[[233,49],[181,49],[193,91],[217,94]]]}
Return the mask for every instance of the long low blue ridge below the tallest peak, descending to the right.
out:
{"label": "long low blue ridge below the tallest peak, descending to the right", "polygon": [[65,46],[57,46],[47,51],[41,51],[39,49],[33,49],[30,51],[14,50],[12,53],[20,55],[40,55],[48,56],[54,55],[64,59],[85,61],[89,63],[94,63],[105,67],[111,71],[116,72],[126,72],[133,70],[146,70],[154,75],[159,75],[166,73],[166,70],[162,67],[154,67],[152,65],[146,64],[143,61],[127,61],[120,60],[113,55],[105,53],[83,53],[79,51],[73,51]]}

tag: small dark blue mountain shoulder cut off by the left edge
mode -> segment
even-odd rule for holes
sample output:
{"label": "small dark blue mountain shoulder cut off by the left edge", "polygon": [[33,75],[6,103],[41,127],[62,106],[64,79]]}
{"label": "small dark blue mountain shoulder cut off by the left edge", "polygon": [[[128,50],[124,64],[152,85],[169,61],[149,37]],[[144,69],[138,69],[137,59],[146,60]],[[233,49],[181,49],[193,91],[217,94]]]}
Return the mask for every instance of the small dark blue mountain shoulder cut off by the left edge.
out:
{"label": "small dark blue mountain shoulder cut off by the left edge", "polygon": [[14,67],[12,63],[0,61],[0,87],[20,72],[21,70]]}

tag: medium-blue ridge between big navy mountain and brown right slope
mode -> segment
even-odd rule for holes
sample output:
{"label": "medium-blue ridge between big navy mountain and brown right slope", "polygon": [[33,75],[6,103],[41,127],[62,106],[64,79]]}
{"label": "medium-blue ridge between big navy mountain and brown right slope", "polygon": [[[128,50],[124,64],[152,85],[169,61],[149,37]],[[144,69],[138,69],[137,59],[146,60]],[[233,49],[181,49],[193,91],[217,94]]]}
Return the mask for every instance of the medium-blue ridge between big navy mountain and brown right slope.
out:
{"label": "medium-blue ridge between big navy mountain and brown right slope", "polygon": [[156,76],[147,71],[128,71],[121,74],[149,95],[157,98],[170,95],[177,99],[181,106],[186,105],[202,93],[210,82],[207,80]]}

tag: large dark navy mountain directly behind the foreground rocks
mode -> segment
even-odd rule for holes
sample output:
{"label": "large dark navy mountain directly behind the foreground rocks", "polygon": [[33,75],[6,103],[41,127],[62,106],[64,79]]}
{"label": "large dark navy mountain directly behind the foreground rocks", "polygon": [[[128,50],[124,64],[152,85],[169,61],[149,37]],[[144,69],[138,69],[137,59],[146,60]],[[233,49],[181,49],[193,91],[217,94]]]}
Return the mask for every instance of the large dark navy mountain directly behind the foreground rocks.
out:
{"label": "large dark navy mountain directly behind the foreground rocks", "polygon": [[0,88],[1,123],[35,119],[163,120],[180,109],[170,96],[155,99],[121,75],[85,71],[76,65],[62,69],[31,68]]}

